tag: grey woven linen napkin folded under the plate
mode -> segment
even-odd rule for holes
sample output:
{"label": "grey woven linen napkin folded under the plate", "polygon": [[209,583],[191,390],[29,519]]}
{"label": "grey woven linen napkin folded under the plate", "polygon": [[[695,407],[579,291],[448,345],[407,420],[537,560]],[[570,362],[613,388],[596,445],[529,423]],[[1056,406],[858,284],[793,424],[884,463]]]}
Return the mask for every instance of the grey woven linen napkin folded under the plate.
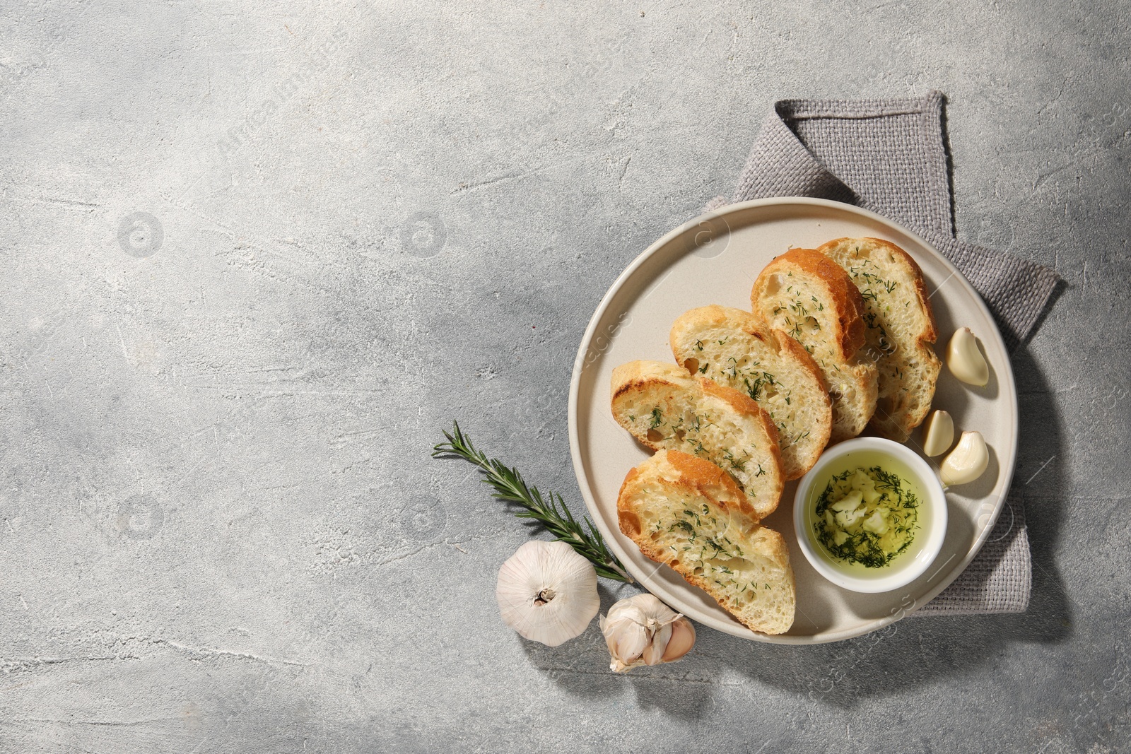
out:
{"label": "grey woven linen napkin folded under the plate", "polygon": [[[754,141],[734,196],[819,197],[890,217],[942,252],[982,294],[1013,349],[1028,338],[1060,277],[1010,253],[955,239],[943,97],[782,99]],[[974,561],[912,615],[1022,613],[1031,590],[1021,500],[1010,496]]]}

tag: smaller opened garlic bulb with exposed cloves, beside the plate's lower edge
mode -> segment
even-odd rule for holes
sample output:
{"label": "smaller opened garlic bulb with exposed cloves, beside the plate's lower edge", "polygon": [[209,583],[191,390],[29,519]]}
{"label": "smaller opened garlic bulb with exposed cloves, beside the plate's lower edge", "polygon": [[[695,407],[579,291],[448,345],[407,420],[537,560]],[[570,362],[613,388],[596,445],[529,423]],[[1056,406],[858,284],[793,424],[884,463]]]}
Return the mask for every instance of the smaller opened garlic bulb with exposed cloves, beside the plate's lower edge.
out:
{"label": "smaller opened garlic bulb with exposed cloves, beside the plate's lower edge", "polygon": [[696,627],[653,595],[622,599],[601,616],[612,661],[608,667],[624,673],[639,665],[674,662],[691,651]]}

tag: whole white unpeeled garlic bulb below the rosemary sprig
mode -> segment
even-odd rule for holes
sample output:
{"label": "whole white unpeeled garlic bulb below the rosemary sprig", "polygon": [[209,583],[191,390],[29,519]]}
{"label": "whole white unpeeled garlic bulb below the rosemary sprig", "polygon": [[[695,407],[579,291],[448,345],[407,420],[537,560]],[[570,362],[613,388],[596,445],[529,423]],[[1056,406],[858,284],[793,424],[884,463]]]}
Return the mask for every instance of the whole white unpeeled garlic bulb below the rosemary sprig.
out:
{"label": "whole white unpeeled garlic bulb below the rosemary sprig", "polygon": [[547,647],[579,636],[601,609],[593,563],[563,541],[528,541],[499,569],[503,623]]}

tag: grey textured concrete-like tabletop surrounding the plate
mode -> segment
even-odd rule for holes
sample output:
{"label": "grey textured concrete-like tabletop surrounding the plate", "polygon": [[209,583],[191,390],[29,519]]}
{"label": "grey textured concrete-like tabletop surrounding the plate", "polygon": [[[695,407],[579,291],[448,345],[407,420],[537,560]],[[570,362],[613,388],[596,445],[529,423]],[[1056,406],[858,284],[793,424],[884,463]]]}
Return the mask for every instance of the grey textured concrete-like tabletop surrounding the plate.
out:
{"label": "grey textured concrete-like tabletop surrounding the plate", "polygon": [[[1126,3],[510,5],[5,12],[0,749],[1126,751]],[[1029,612],[520,640],[441,428],[579,509],[608,284],[774,99],[930,88],[960,237],[1068,281],[1015,359]]]}

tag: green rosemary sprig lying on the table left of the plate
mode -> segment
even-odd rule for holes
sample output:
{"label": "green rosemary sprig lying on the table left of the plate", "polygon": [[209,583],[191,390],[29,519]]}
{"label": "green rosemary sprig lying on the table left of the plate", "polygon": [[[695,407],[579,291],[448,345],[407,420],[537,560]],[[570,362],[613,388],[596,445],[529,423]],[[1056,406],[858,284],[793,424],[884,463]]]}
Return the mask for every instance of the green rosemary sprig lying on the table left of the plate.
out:
{"label": "green rosemary sprig lying on the table left of the plate", "polygon": [[515,515],[537,521],[553,535],[554,539],[564,541],[593,563],[597,575],[633,583],[632,577],[608,552],[601,532],[587,517],[581,517],[579,523],[569,512],[561,495],[556,493],[551,492],[549,501],[543,500],[537,487],[527,486],[518,469],[504,466],[498,459],[487,458],[482,451],[476,450],[470,437],[459,428],[458,422],[452,424],[452,431],[443,433],[447,442],[441,442],[432,449],[432,458],[456,456],[477,466],[483,473],[483,482],[494,488],[493,496],[497,500],[513,503],[523,509]]}

